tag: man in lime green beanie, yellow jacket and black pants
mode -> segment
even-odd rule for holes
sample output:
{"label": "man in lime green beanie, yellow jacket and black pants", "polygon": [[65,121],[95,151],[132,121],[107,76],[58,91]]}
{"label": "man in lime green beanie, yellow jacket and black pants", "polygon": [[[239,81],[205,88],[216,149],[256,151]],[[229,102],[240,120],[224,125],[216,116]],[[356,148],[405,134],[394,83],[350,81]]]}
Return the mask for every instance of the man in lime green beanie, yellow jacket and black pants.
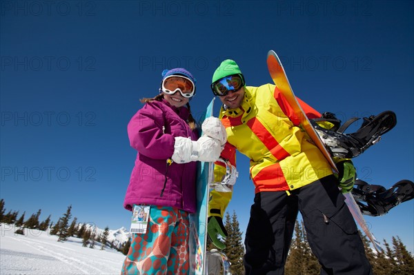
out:
{"label": "man in lime green beanie, yellow jacket and black pants", "polygon": [[[322,265],[321,274],[372,274],[353,217],[339,191],[350,192],[355,167],[336,159],[335,177],[322,152],[299,126],[275,85],[246,87],[233,60],[225,60],[213,74],[211,88],[224,104],[220,119],[227,143],[221,157],[235,165],[235,150],[250,159],[255,199],[246,230],[246,274],[284,274],[284,265],[298,211],[304,219],[308,243]],[[310,119],[319,112],[300,101]],[[224,173],[215,165],[216,181]],[[222,218],[231,192],[211,192],[208,235],[224,248]]]}

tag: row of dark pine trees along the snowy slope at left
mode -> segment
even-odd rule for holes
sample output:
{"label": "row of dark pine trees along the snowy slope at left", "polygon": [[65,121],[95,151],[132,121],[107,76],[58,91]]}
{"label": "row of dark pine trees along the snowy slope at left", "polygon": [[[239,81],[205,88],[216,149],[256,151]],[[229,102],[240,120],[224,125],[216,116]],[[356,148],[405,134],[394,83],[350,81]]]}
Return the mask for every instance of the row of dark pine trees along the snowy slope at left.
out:
{"label": "row of dark pine trees along the snowy slope at left", "polygon": [[95,243],[101,243],[101,249],[106,246],[116,249],[117,251],[126,255],[130,247],[130,241],[125,243],[116,244],[115,241],[108,243],[109,227],[105,227],[102,234],[97,234],[96,227],[87,227],[86,223],[77,223],[77,218],[72,218],[72,205],[68,206],[66,212],[61,216],[57,223],[53,224],[50,220],[50,215],[46,220],[39,222],[39,216],[41,210],[37,211],[36,214],[32,214],[27,220],[25,218],[26,212],[17,218],[19,211],[10,210],[7,214],[6,208],[4,207],[4,200],[0,200],[0,223],[14,224],[17,227],[16,234],[25,234],[24,229],[32,230],[49,230],[50,235],[58,236],[57,241],[67,241],[69,237],[77,237],[82,239],[83,247],[94,248]]}

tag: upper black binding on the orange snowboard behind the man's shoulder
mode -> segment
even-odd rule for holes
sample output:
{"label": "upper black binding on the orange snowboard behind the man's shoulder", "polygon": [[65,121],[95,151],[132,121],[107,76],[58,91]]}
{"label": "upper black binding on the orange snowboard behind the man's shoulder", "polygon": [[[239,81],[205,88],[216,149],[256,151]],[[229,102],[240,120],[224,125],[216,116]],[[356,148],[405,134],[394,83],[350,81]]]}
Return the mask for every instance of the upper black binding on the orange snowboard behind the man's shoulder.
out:
{"label": "upper black binding on the orange snowboard behind the man's shoulder", "polygon": [[[364,117],[363,119],[364,122],[359,130],[351,134],[344,134],[344,131],[358,118],[349,119],[341,126],[341,121],[335,117],[335,114],[326,112],[322,114],[321,119],[313,119],[311,123],[332,156],[352,159],[380,141],[381,136],[397,124],[397,117],[392,111],[385,111],[377,116]],[[317,124],[318,121],[331,122],[333,128],[330,130],[322,128]]]}

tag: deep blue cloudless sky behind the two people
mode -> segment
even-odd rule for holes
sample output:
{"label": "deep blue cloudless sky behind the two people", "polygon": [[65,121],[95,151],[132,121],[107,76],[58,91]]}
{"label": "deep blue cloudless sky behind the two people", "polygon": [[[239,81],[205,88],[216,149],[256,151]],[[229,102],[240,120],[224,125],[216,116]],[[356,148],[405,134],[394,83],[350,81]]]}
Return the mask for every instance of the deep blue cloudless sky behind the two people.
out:
{"label": "deep blue cloudless sky behind the two people", "polygon": [[[161,71],[197,78],[193,113],[230,57],[248,85],[271,82],[275,50],[293,90],[342,121],[384,110],[396,128],[355,159],[359,178],[413,180],[413,1],[1,1],[1,194],[8,210],[129,227],[122,203],[136,152],[126,125]],[[219,101],[216,101],[218,115]],[[228,210],[246,230],[248,159]],[[375,236],[414,251],[414,202],[367,217]]]}

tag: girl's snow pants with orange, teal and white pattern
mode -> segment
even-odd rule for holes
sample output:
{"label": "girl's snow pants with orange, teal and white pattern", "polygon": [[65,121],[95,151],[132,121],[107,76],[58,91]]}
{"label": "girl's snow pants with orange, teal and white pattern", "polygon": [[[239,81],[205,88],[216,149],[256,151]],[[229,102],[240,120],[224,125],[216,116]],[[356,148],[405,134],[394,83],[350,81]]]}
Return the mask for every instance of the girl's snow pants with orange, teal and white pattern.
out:
{"label": "girl's snow pants with orange, teal and white pattern", "polygon": [[188,274],[188,213],[151,205],[146,234],[132,234],[121,275]]}

